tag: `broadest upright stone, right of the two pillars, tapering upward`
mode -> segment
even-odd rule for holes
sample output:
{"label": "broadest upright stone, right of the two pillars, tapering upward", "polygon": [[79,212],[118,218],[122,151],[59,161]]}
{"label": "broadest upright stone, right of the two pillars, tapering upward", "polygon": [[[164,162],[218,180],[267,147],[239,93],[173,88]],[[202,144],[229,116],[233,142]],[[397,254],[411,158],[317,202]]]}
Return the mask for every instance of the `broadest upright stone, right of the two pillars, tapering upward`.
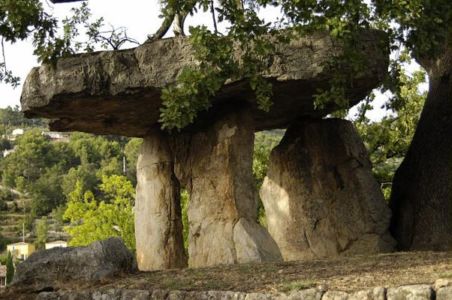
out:
{"label": "broadest upright stone, right of the two pillars, tapering upward", "polygon": [[392,250],[390,211],[367,151],[344,120],[289,127],[260,191],[268,230],[285,260]]}

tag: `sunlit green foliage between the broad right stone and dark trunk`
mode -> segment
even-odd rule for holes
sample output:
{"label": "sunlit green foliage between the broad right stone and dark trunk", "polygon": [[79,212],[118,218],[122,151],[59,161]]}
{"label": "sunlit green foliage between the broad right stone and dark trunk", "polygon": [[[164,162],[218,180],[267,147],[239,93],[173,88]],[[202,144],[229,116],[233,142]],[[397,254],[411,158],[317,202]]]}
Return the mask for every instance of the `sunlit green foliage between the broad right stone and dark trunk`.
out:
{"label": "sunlit green foliage between the broad right stone and dark trunk", "polygon": [[419,84],[425,82],[423,71],[408,75],[402,69],[399,76],[400,92],[396,101],[386,104],[389,112],[386,117],[379,122],[371,122],[366,117],[372,109],[372,98],[368,98],[360,105],[355,119],[386,199],[389,199],[392,178],[411,143],[426,98],[426,93],[419,92]]}

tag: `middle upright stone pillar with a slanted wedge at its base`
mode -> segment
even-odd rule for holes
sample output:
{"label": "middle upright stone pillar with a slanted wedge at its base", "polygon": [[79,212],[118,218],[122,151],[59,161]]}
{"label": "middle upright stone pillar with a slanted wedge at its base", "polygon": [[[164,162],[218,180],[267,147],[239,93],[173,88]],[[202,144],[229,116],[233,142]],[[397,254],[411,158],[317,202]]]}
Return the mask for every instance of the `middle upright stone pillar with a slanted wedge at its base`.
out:
{"label": "middle upright stone pillar with a slanted wedge at its base", "polygon": [[190,168],[189,266],[281,260],[278,246],[256,221],[249,114],[231,113],[192,134],[189,144],[180,166]]}

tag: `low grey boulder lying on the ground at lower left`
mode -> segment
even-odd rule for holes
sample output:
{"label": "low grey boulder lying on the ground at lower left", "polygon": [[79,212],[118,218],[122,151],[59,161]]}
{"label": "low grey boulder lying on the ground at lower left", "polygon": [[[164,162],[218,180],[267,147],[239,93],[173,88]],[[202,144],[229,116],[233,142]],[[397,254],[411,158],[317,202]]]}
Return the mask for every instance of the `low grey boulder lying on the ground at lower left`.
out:
{"label": "low grey boulder lying on the ground at lower left", "polygon": [[36,290],[57,288],[69,281],[93,281],[136,271],[133,255],[120,238],[87,247],[53,248],[33,253],[16,267],[14,286]]}

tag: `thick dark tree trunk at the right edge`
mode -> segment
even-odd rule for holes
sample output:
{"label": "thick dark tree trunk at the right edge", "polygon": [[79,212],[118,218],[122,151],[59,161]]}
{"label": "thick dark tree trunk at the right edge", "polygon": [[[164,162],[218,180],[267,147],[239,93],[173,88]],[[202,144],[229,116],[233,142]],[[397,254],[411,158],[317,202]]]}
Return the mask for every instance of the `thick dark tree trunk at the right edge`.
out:
{"label": "thick dark tree trunk at the right edge", "polygon": [[402,250],[452,249],[452,49],[420,60],[430,90],[413,141],[397,170],[391,232]]}

